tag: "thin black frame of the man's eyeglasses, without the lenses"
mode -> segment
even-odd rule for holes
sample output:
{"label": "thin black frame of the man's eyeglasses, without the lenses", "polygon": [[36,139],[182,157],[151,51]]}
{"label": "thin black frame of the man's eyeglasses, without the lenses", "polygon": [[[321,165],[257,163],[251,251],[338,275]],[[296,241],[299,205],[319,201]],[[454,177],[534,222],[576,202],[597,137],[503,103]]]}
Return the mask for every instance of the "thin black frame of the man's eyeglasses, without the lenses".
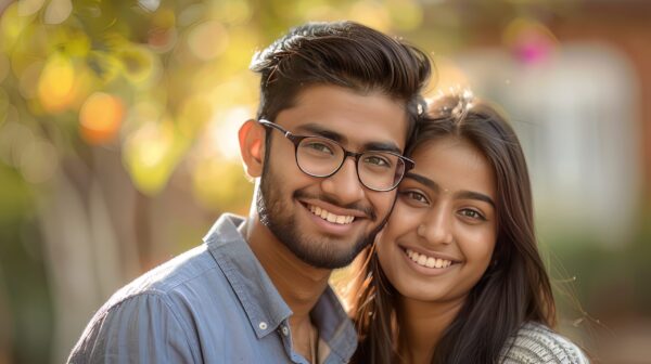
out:
{"label": "thin black frame of the man's eyeglasses, without the lenses", "polygon": [[[395,152],[391,152],[391,151],[365,151],[365,152],[350,152],[348,150],[346,150],[342,144],[340,144],[336,141],[333,141],[332,139],[329,138],[324,138],[324,136],[320,136],[320,135],[296,135],[293,134],[292,132],[285,130],[283,127],[279,126],[276,122],[266,120],[266,119],[259,119],[258,122],[265,127],[265,128],[271,128],[271,129],[276,129],[278,131],[280,131],[290,142],[292,142],[292,144],[294,144],[294,159],[296,160],[296,166],[298,166],[298,168],[301,169],[301,171],[307,176],[310,177],[317,177],[317,178],[329,178],[334,176],[336,172],[340,171],[340,169],[342,169],[342,166],[344,165],[344,161],[346,161],[347,157],[353,157],[355,158],[355,172],[357,172],[357,179],[359,180],[359,183],[361,183],[361,185],[363,185],[365,187],[371,190],[371,191],[376,191],[376,192],[388,192],[392,190],[395,190],[398,184],[400,184],[400,182],[403,181],[403,179],[405,178],[405,174],[407,174],[407,171],[409,171],[410,169],[412,169],[416,166],[416,162],[407,157],[405,157],[404,155],[400,155],[398,153]],[[339,167],[336,167],[334,169],[334,171],[332,171],[329,174],[314,174],[314,173],[308,173],[306,170],[303,169],[303,167],[301,167],[301,164],[298,162],[298,145],[301,144],[301,142],[304,139],[307,138],[316,138],[316,139],[323,139],[327,140],[329,143],[333,143],[339,145],[342,151],[344,151],[344,157],[342,158],[342,161],[340,162]],[[372,188],[369,187],[366,183],[363,183],[363,181],[361,181],[361,178],[359,177],[359,158],[365,155],[365,154],[369,154],[369,153],[386,153],[386,154],[391,154],[395,157],[397,157],[398,159],[403,160],[403,164],[405,164],[405,170],[403,171],[403,176],[400,176],[400,178],[395,182],[395,184],[393,186],[391,186],[390,188]]]}

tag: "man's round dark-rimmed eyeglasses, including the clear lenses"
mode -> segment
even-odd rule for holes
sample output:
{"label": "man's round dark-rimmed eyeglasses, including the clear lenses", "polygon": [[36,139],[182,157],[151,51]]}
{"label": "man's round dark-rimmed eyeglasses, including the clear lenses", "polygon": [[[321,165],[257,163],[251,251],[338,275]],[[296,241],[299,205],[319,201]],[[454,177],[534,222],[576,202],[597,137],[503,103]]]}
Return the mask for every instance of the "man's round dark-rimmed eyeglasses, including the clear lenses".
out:
{"label": "man's round dark-rimmed eyeglasses, including the clear lenses", "polygon": [[311,177],[331,177],[336,173],[346,157],[355,158],[357,178],[367,188],[391,191],[403,180],[405,173],[413,168],[413,160],[397,153],[386,151],[366,151],[355,153],[346,151],[337,142],[323,136],[295,135],[279,125],[260,119],[266,128],[276,129],[294,143],[296,165]]}

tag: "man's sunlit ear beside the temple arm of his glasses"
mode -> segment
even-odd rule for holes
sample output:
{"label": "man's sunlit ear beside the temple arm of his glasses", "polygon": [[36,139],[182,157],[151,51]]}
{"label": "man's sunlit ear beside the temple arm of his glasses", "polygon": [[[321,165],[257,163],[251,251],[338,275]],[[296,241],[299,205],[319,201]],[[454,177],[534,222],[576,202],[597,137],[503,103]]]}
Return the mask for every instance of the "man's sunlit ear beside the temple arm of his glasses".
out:
{"label": "man's sunlit ear beside the temple arm of his glasses", "polygon": [[265,127],[253,119],[246,120],[238,132],[240,154],[242,155],[244,169],[246,174],[252,178],[260,177],[263,174],[265,134]]}

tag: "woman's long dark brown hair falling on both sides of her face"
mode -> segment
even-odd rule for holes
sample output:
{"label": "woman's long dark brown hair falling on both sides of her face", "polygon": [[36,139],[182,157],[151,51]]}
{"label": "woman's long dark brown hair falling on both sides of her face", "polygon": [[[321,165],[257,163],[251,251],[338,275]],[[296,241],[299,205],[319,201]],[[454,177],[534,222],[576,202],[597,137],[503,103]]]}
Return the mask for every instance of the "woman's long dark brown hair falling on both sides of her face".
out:
{"label": "woman's long dark brown hair falling on both sides of her face", "polygon": [[[468,93],[430,104],[408,152],[446,136],[470,141],[488,159],[496,179],[497,242],[493,261],[434,350],[432,363],[496,363],[508,338],[525,322],[556,324],[556,306],[534,232],[529,177],[522,147],[505,117]],[[398,362],[399,292],[369,247],[356,261],[348,287],[360,343],[358,363]]]}

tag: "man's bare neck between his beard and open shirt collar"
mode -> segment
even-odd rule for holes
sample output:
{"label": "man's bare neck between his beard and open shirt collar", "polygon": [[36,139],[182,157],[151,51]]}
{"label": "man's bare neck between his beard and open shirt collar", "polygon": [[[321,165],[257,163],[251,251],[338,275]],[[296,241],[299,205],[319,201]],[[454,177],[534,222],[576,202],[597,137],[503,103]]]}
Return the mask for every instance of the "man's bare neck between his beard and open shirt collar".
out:
{"label": "man's bare neck between his beard and open shirt collar", "polygon": [[309,324],[309,312],[328,287],[332,271],[302,261],[257,217],[247,219],[242,233],[278,292],[294,313],[290,324]]}

